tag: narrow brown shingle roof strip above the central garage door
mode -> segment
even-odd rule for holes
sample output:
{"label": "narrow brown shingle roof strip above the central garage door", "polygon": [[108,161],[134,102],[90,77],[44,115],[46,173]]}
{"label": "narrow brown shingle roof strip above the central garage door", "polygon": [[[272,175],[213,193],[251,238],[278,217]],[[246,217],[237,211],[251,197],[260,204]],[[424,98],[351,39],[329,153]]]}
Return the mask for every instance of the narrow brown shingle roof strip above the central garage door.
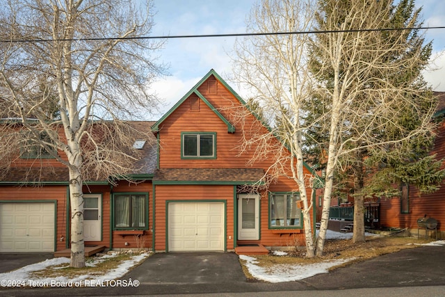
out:
{"label": "narrow brown shingle roof strip above the central garage door", "polygon": [[156,170],[153,181],[163,182],[258,182],[262,168],[163,168]]}

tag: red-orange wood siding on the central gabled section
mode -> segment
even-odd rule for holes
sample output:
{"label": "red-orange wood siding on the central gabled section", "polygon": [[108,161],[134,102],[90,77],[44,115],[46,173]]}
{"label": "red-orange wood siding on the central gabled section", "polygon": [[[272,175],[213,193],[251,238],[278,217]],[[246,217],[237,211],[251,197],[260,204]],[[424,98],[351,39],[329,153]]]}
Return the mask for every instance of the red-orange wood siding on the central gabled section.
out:
{"label": "red-orange wood siding on the central gabled section", "polygon": [[[209,83],[209,81],[211,81]],[[239,154],[239,146],[243,143],[243,137],[254,137],[267,134],[268,130],[254,115],[248,112],[238,99],[225,86],[209,77],[198,88],[198,91],[218,110],[223,117],[236,127],[234,134],[229,134],[227,125],[221,120],[207,104],[200,102],[199,111],[191,111],[190,97],[178,106],[159,127],[159,139],[161,150],[159,164],[161,168],[264,168],[268,169],[274,161],[273,150],[282,151],[282,147],[275,138],[269,138],[270,150],[264,154],[264,158],[253,164],[248,164],[256,153],[250,147],[243,154]],[[194,94],[191,97],[195,97]],[[240,117],[240,112],[243,116]],[[243,131],[244,128],[244,131]],[[181,132],[216,132],[217,158],[216,159],[181,159]],[[285,154],[289,154],[285,152]],[[289,166],[288,166],[289,168]],[[305,173],[309,171],[305,168]],[[227,193],[220,196],[219,188],[227,188]],[[206,194],[204,194],[206,188]],[[185,195],[184,195],[185,191]],[[270,192],[298,191],[296,182],[286,177],[280,177],[268,188]],[[178,197],[179,194],[179,197]],[[165,200],[174,199],[224,199],[227,200],[227,249],[233,249],[234,243],[228,239],[232,235],[233,220],[236,217],[233,206],[233,186],[156,186],[156,250],[165,250]],[[310,196],[310,193],[309,193]],[[302,230],[296,230],[295,234],[279,234],[275,230],[268,229],[268,195],[264,193],[261,198],[261,240],[266,246],[304,246],[304,234]],[[301,232],[301,233],[297,233]]]}

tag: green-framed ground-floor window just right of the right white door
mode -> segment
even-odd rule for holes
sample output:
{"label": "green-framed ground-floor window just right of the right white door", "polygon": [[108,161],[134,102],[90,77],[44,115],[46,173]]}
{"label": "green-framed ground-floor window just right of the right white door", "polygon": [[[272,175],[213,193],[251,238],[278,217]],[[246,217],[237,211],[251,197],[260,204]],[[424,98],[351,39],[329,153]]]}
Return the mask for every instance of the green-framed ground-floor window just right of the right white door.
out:
{"label": "green-framed ground-floor window just right of the right white door", "polygon": [[297,202],[300,195],[296,193],[271,194],[269,199],[270,228],[302,227],[301,209]]}

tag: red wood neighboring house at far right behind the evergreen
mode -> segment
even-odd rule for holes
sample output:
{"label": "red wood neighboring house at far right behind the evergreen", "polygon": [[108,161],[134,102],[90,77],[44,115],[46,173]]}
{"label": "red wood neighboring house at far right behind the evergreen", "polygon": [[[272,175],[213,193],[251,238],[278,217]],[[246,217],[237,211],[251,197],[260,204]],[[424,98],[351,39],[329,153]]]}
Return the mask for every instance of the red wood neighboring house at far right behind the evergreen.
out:
{"label": "red wood neighboring house at far right behind the evergreen", "polygon": [[[445,158],[445,92],[435,92],[439,97],[439,105],[435,117],[441,120],[437,129],[432,154],[437,154],[437,159]],[[439,238],[444,238],[445,232],[445,182],[435,193],[421,194],[414,186],[402,186],[401,198],[380,200],[380,225],[384,227],[407,228],[409,232],[417,236],[419,230],[417,220],[427,216],[438,221],[437,231]],[[435,236],[435,232],[429,232]],[[420,234],[425,234],[421,228]]]}

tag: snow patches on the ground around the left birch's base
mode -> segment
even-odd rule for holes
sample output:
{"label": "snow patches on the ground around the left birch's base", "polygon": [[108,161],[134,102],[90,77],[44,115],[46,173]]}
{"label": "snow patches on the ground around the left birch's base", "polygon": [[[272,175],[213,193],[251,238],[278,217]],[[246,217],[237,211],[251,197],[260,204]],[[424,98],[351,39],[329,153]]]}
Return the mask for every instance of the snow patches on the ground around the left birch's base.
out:
{"label": "snow patches on the ground around the left birch's base", "polygon": [[[87,266],[96,266],[100,262],[104,262],[105,259],[110,257],[116,257],[118,254],[111,255],[103,255],[101,257],[90,258],[92,261],[88,261]],[[33,272],[40,271],[48,268],[49,266],[56,266],[60,264],[67,264],[66,266],[57,267],[54,269],[65,268],[70,264],[70,259],[65,257],[47,259],[43,262],[31,264],[28,266],[24,266],[15,271],[10,271],[7,273],[0,273],[1,287],[8,287],[8,285],[3,286],[4,284],[10,284],[9,287],[95,287],[98,284],[106,284],[107,282],[111,282],[117,280],[118,278],[122,278],[133,266],[136,266],[138,263],[143,261],[145,258],[149,257],[148,253],[143,253],[140,255],[136,255],[131,257],[130,259],[122,262],[118,267],[110,270],[103,271],[102,273],[94,275],[81,275],[76,278],[67,278],[65,276],[58,276],[53,278],[45,278],[45,277],[35,277],[33,276]]]}

